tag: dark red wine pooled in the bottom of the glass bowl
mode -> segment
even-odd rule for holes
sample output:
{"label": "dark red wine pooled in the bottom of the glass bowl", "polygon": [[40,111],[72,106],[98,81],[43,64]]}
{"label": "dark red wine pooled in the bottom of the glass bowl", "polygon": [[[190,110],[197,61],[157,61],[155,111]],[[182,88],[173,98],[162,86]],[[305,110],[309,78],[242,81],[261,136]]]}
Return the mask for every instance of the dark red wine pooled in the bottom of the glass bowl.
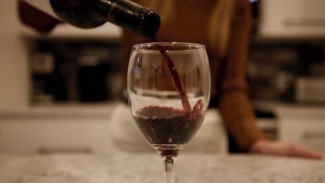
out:
{"label": "dark red wine pooled in the bottom of the glass bowl", "polygon": [[141,108],[133,117],[151,145],[184,145],[199,130],[203,111],[194,108],[185,112],[174,107],[151,105]]}

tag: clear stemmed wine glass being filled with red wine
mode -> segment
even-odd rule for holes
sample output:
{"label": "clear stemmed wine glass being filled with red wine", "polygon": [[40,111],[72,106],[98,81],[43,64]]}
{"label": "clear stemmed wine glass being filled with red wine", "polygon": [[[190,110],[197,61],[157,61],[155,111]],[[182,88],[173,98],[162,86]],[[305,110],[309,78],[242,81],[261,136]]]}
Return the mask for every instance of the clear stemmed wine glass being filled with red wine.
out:
{"label": "clear stemmed wine glass being filled with red wine", "polygon": [[128,65],[128,104],[148,143],[173,182],[178,151],[199,130],[210,100],[210,67],[205,46],[156,42],[133,46]]}

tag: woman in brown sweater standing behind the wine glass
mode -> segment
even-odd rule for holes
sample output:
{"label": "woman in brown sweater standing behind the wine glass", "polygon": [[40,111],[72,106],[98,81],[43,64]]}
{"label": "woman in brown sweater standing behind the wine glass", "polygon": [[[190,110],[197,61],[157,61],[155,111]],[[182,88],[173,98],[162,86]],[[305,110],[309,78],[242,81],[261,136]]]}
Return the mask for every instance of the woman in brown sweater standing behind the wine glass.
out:
{"label": "woman in brown sweater standing behind the wine glass", "polygon": [[[158,40],[206,45],[212,81],[210,107],[217,107],[222,115],[229,138],[235,144],[235,151],[322,158],[319,153],[301,146],[269,140],[256,126],[245,76],[251,33],[251,9],[248,0],[135,2],[160,15],[162,24],[156,35]],[[19,1],[19,15],[24,24],[41,32],[48,32],[59,23],[22,1]],[[144,42],[149,40],[123,30],[122,73],[125,86],[132,46]]]}

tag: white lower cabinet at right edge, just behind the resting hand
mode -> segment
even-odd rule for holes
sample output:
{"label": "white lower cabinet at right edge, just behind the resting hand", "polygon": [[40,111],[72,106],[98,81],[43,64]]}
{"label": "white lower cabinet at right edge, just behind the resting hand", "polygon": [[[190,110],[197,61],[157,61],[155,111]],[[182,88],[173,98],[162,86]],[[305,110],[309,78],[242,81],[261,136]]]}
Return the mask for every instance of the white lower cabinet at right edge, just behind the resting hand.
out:
{"label": "white lower cabinet at right edge, just behind the resting hand", "polygon": [[277,108],[279,139],[325,153],[325,107]]}

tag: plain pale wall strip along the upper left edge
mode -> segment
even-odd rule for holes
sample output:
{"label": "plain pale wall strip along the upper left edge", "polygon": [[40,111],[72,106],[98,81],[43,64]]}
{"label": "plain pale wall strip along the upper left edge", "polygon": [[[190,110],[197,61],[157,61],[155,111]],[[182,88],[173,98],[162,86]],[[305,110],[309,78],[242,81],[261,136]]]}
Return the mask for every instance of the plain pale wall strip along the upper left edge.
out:
{"label": "plain pale wall strip along the upper left edge", "polygon": [[15,0],[0,1],[0,111],[28,107],[27,52]]}

